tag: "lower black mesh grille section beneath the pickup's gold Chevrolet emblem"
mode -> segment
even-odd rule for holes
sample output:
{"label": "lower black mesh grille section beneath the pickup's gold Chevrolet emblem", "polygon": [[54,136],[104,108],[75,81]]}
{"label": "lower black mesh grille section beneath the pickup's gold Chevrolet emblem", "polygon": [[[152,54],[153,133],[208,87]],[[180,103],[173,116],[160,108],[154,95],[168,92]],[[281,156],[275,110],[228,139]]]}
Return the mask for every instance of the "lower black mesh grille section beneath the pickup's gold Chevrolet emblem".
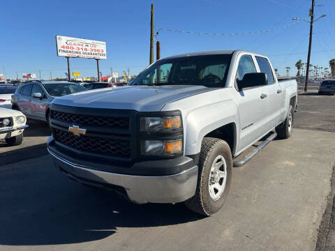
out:
{"label": "lower black mesh grille section beneath the pickup's gold Chevrolet emblem", "polygon": [[56,128],[53,128],[53,135],[57,142],[80,151],[121,158],[131,157],[130,142],[128,139],[106,139],[87,135],[77,137]]}

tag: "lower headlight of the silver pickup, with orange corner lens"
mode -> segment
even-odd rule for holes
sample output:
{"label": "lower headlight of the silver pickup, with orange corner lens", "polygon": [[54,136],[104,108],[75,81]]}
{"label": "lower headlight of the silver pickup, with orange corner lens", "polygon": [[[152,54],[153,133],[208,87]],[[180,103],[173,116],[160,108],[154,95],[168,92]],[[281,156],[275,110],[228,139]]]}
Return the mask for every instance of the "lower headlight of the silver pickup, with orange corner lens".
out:
{"label": "lower headlight of the silver pickup, with orange corner lens", "polygon": [[142,155],[165,156],[183,151],[183,140],[142,140]]}

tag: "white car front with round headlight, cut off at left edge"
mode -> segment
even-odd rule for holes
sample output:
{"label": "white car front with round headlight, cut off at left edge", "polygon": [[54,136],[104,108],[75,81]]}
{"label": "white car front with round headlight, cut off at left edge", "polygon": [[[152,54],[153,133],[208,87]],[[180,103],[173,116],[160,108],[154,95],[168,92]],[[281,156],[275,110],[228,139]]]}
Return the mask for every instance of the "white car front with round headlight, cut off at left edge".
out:
{"label": "white car front with round headlight, cut off at left edge", "polygon": [[0,140],[5,139],[9,146],[20,145],[23,131],[28,127],[26,121],[22,112],[0,108]]}

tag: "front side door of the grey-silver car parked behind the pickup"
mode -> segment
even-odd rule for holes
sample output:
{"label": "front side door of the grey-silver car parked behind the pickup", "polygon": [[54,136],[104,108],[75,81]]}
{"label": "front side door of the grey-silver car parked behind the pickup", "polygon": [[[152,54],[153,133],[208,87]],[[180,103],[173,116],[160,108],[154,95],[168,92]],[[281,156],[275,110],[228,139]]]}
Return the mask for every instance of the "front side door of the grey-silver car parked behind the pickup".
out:
{"label": "front side door of the grey-silver car parked behind the pickup", "polygon": [[[42,98],[34,98],[34,93],[42,94]],[[47,105],[48,101],[45,91],[43,91],[39,84],[34,84],[31,90],[31,118],[45,121]]]}

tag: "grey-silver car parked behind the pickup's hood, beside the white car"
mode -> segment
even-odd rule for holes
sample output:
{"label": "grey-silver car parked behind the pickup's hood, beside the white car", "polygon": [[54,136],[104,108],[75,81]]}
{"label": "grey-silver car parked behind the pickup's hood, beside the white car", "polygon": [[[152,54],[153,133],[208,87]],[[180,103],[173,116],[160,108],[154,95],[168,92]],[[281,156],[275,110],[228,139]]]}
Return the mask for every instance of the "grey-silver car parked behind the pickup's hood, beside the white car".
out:
{"label": "grey-silver car parked behind the pickup's hood, beside the white car", "polygon": [[12,109],[21,111],[28,119],[49,123],[52,100],[68,94],[87,91],[77,83],[66,81],[31,81],[22,84],[12,96]]}

